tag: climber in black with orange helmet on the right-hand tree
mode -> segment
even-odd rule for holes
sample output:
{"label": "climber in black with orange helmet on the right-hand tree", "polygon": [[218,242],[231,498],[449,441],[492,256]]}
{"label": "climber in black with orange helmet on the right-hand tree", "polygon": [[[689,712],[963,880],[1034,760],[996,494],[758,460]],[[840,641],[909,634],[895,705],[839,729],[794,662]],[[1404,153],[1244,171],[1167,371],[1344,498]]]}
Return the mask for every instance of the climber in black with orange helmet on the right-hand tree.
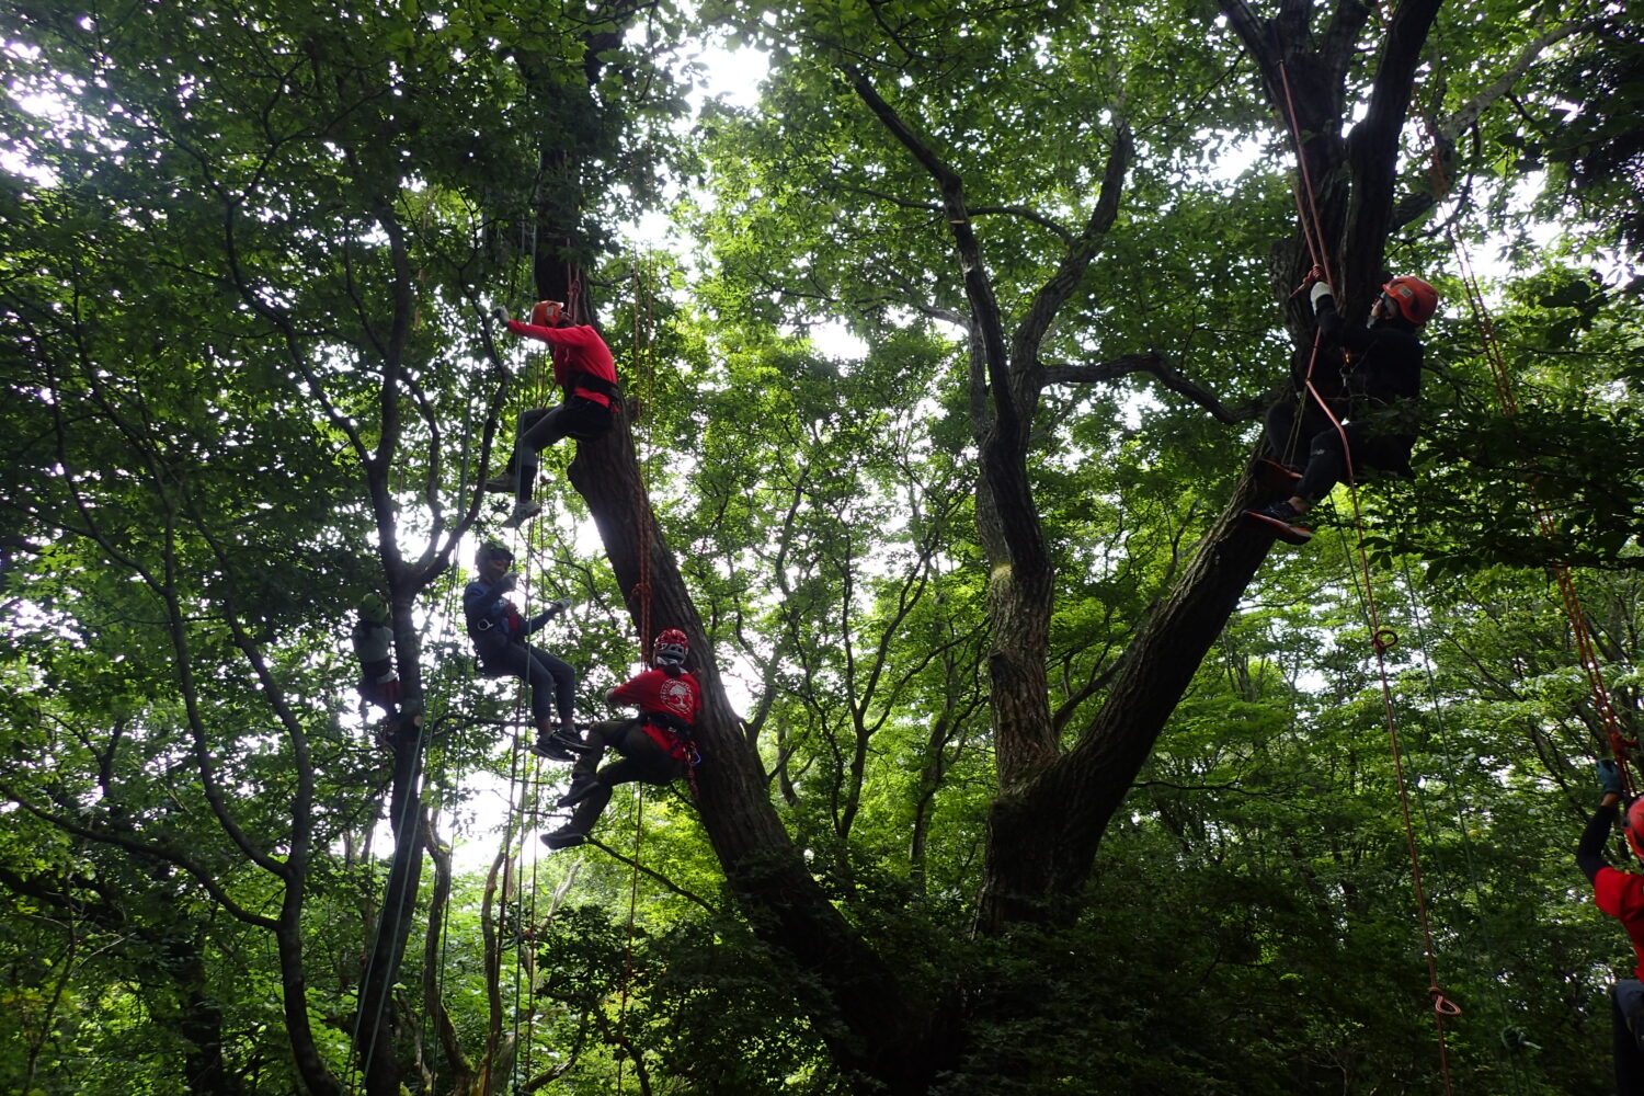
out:
{"label": "climber in black with orange helmet on the right-hand tree", "polygon": [[[1350,325],[1337,312],[1328,283],[1315,281],[1310,297],[1318,319],[1318,360],[1310,378],[1317,396],[1299,385],[1297,401],[1276,404],[1266,422],[1272,454],[1268,465],[1276,467],[1281,481],[1291,481],[1289,498],[1245,511],[1249,521],[1289,544],[1305,544],[1314,536],[1302,516],[1360,468],[1412,475],[1422,375],[1417,332],[1438,307],[1438,292],[1409,276],[1381,288],[1365,327]],[[1294,460],[1297,439],[1307,439],[1304,467]]]}

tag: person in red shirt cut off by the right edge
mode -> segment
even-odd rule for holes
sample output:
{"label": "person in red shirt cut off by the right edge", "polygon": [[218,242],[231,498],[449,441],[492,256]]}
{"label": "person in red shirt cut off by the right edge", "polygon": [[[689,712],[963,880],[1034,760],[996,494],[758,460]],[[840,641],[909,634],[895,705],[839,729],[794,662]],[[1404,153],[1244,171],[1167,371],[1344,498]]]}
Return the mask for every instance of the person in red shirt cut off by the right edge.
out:
{"label": "person in red shirt cut off by the right edge", "polygon": [[[1575,846],[1575,863],[1582,866],[1586,881],[1593,884],[1598,909],[1621,922],[1632,940],[1637,965],[1632,978],[1618,978],[1609,988],[1611,1045],[1616,1060],[1616,1093],[1619,1096],[1644,1096],[1644,876],[1616,871],[1605,863],[1605,838],[1616,822],[1616,804],[1624,787],[1614,761],[1598,762],[1598,782],[1605,789],[1598,812],[1582,843]],[[1644,799],[1632,800],[1623,818],[1623,830],[1632,853],[1644,859]]]}

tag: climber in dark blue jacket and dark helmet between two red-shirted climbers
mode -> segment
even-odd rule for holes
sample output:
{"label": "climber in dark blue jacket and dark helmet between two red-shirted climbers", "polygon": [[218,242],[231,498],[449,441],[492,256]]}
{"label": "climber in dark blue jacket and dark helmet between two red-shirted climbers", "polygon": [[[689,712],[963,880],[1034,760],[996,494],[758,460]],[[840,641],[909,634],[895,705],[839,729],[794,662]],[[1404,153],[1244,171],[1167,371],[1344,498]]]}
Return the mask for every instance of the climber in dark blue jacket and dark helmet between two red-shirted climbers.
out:
{"label": "climber in dark blue jacket and dark helmet between two red-shirted climbers", "polygon": [[462,590],[462,615],[480,665],[492,677],[511,675],[531,687],[531,720],[536,725],[536,744],[531,751],[569,761],[572,754],[587,749],[577,738],[575,726],[577,674],[547,651],[526,642],[526,636],[562,613],[567,603],[554,601],[526,619],[506,600],[518,583],[510,570],[513,552],[487,541],[475,555],[475,565],[478,577]]}

